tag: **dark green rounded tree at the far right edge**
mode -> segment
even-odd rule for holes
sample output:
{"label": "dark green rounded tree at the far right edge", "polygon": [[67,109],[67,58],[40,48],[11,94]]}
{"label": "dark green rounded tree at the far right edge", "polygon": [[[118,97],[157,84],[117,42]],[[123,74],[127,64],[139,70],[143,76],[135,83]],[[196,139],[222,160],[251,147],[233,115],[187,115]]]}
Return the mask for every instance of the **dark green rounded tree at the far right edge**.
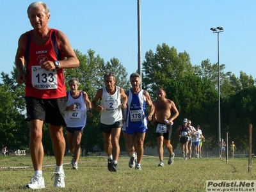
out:
{"label": "dark green rounded tree at the far right edge", "polygon": [[[250,86],[225,99],[221,108],[221,126],[225,127],[223,133],[228,131],[230,140],[235,140],[237,147],[243,150],[247,150],[248,147],[248,125],[255,126],[255,100],[256,87]],[[255,136],[253,132],[254,148],[256,147]]]}

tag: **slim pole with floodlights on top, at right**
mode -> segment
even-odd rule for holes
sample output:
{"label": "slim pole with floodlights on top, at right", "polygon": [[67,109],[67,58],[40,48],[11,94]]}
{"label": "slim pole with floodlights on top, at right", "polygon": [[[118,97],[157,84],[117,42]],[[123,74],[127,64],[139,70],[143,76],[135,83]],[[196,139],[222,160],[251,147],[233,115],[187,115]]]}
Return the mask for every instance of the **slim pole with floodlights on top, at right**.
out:
{"label": "slim pole with floodlights on top, at right", "polygon": [[[218,138],[219,138],[219,143],[221,141],[221,118],[220,118],[220,46],[219,46],[219,33],[223,32],[224,29],[222,27],[218,27],[217,29],[216,28],[211,28],[211,31],[213,33],[217,33],[218,34],[218,129],[219,129],[219,135],[218,135]],[[220,157],[222,158],[222,153],[221,153],[221,149],[219,147],[219,154],[220,154]]]}

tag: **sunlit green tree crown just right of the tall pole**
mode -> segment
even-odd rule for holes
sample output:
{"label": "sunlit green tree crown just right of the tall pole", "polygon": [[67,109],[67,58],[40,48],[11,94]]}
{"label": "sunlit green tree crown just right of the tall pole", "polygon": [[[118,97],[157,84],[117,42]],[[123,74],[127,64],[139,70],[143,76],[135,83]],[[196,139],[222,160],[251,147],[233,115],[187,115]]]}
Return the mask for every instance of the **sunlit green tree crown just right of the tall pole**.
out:
{"label": "sunlit green tree crown just right of the tall pole", "polygon": [[168,79],[179,79],[193,73],[189,54],[177,53],[175,47],[166,44],[157,45],[156,53],[146,52],[143,61],[143,87],[152,93],[158,86],[163,86]]}

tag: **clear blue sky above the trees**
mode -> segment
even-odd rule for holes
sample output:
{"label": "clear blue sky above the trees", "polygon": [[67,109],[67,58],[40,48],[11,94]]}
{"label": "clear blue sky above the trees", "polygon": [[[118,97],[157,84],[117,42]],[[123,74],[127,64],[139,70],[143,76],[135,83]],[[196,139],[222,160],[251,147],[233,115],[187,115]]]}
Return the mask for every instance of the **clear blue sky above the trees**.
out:
{"label": "clear blue sky above the trees", "polygon": [[[31,29],[26,10],[33,1],[0,1],[0,72],[10,73],[19,36]],[[128,74],[138,68],[136,0],[45,0],[51,11],[49,26],[65,33],[73,49],[92,49],[104,61],[115,57]],[[242,70],[256,78],[256,1],[254,0],[141,0],[141,58],[157,44],[186,51],[193,65],[207,58],[217,63],[217,34],[222,26],[220,63],[225,72]]]}

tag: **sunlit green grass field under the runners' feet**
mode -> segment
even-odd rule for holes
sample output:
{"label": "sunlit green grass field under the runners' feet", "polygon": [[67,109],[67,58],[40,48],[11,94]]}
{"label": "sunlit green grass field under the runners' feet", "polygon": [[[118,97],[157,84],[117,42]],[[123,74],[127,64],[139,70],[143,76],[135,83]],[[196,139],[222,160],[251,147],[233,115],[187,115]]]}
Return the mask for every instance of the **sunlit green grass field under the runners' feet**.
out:
{"label": "sunlit green grass field under the runners' feet", "polygon": [[[64,159],[65,189],[56,189],[51,177],[55,166],[54,157],[44,157],[43,176],[45,189],[40,191],[205,191],[206,180],[255,180],[256,170],[248,173],[248,159],[228,159],[228,163],[218,158],[188,159],[175,157],[168,165],[164,157],[164,167],[157,167],[158,157],[143,157],[141,171],[128,167],[129,157],[120,157],[118,172],[109,172],[107,157],[81,157],[78,170],[72,170],[70,157]],[[24,188],[34,171],[31,159],[26,156],[0,157],[0,167],[29,166],[29,168],[0,169],[0,191],[32,191]]]}

